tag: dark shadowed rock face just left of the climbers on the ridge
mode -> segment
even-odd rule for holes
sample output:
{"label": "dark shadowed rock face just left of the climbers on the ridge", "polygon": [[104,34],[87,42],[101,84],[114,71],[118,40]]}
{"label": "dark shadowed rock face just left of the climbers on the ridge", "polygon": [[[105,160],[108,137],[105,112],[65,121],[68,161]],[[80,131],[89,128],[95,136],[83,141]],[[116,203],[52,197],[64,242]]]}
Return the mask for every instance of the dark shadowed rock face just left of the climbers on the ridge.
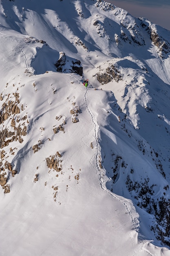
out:
{"label": "dark shadowed rock face just left of the climbers on the ridge", "polygon": [[55,67],[57,67],[57,72],[75,73],[80,76],[83,75],[83,67],[81,62],[76,59],[67,57],[64,52],[60,52],[60,58],[55,63]]}

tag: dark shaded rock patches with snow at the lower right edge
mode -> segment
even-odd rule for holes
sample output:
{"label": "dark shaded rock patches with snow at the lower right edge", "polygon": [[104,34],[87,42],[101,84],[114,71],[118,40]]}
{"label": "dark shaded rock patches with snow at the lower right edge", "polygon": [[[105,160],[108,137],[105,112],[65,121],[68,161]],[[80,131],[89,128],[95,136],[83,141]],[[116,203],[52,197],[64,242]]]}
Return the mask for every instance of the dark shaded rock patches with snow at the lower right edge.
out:
{"label": "dark shaded rock patches with snow at the lower right edge", "polygon": [[[149,214],[154,214],[156,228],[151,226],[151,229],[157,234],[157,239],[161,240],[164,245],[170,246],[170,199],[163,196],[155,198],[155,187],[157,187],[157,184],[150,184],[148,177],[145,178],[144,182],[139,182],[130,179],[130,175],[128,175],[126,186],[130,194],[133,194],[135,191],[137,206],[145,209]],[[165,190],[168,188],[164,187]]]}

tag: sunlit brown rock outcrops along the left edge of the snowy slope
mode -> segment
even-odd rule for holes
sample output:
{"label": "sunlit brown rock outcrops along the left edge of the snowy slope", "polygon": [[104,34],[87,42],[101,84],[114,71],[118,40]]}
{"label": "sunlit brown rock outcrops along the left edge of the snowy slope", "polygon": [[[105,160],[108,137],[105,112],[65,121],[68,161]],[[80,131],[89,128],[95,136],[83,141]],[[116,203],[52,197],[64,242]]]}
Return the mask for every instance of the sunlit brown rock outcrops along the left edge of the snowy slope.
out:
{"label": "sunlit brown rock outcrops along the left edge of the snowy slope", "polygon": [[[0,99],[3,101],[2,94]],[[23,137],[27,134],[27,126],[25,124],[27,116],[20,118],[20,113],[23,110],[24,107],[20,105],[19,93],[17,92],[7,96],[0,110],[0,148],[3,148],[0,151],[0,185],[4,189],[4,193],[10,192],[10,186],[7,184],[10,175],[14,177],[17,173],[17,170],[13,169],[12,164],[6,160],[9,155],[15,154],[16,148],[11,147],[10,149],[7,148],[7,150],[5,148],[12,144],[13,141],[22,143]],[[4,123],[9,120],[11,120],[9,122],[10,127],[5,126],[4,128]],[[29,121],[27,120],[28,123]]]}

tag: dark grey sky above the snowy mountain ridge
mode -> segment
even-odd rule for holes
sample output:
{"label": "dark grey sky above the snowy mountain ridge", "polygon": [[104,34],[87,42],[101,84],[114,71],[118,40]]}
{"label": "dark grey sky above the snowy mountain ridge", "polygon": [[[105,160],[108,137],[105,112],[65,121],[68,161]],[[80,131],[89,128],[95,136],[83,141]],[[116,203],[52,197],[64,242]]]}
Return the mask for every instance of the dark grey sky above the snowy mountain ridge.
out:
{"label": "dark grey sky above the snowy mountain ridge", "polygon": [[107,0],[117,7],[125,9],[137,18],[148,18],[151,22],[170,30],[169,0]]}

